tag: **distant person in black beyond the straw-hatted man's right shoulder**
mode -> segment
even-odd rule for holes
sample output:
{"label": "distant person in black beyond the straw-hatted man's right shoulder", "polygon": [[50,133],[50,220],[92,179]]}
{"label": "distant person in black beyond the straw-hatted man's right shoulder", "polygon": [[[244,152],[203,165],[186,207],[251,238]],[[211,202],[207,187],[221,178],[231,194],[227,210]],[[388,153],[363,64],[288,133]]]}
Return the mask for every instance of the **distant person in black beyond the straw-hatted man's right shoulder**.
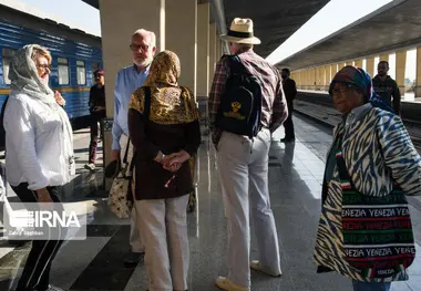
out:
{"label": "distant person in black beyond the straw-hatted man's right shoulder", "polygon": [[296,135],[294,132],[294,123],[292,123],[292,112],[294,112],[294,100],[297,95],[297,86],[296,82],[290,77],[289,69],[283,69],[280,75],[283,77],[283,89],[285,97],[287,98],[288,105],[288,118],[284,122],[285,128],[285,137],[280,139],[283,143],[294,142],[296,139]]}

